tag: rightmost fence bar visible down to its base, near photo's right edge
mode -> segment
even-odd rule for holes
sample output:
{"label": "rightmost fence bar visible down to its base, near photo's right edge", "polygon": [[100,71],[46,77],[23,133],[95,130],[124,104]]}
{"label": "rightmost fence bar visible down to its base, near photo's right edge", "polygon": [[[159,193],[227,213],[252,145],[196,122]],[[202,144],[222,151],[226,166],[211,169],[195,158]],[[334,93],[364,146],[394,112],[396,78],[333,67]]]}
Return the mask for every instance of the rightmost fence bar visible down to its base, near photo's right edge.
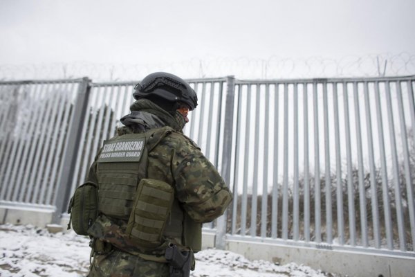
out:
{"label": "rightmost fence bar visible down to its base, near photo's right edge", "polygon": [[[411,226],[411,238],[412,245],[415,242],[415,215],[414,215],[414,192],[412,188],[412,179],[411,179],[411,169],[409,165],[409,149],[407,142],[407,127],[405,124],[405,114],[403,111],[403,100],[402,100],[402,89],[400,88],[400,82],[396,82],[396,93],[398,98],[398,113],[399,113],[399,122],[400,122],[400,138],[402,139],[403,145],[403,163],[405,170],[405,183],[407,189],[407,205],[409,210],[409,223]],[[406,245],[405,245],[406,250]]]}

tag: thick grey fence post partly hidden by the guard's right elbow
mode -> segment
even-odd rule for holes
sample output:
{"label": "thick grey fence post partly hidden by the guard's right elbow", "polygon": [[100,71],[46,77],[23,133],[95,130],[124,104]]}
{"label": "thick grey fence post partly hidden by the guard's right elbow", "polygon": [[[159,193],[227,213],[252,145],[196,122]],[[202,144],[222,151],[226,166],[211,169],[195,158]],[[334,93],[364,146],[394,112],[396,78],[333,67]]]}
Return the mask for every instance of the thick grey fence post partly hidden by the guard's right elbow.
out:
{"label": "thick grey fence post partly hidden by the guard's right elbow", "polygon": [[[228,186],[230,186],[230,166],[232,155],[232,126],[233,126],[233,114],[234,114],[234,84],[235,78],[233,75],[226,77],[226,102],[225,102],[225,120],[223,126],[223,148],[222,148],[222,166],[221,176]],[[216,220],[216,237],[215,247],[216,249],[225,249],[225,235],[226,235],[226,223],[228,213],[225,213]]]}

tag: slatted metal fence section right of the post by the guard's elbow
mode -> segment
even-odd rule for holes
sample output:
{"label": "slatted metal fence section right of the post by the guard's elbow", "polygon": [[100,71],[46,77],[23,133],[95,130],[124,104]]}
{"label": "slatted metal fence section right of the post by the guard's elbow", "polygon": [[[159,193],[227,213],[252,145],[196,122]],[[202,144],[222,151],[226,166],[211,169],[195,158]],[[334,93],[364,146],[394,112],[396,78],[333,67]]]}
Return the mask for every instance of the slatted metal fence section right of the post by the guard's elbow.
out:
{"label": "slatted metal fence section right of the post by the guard's elbow", "polygon": [[414,254],[414,77],[237,81],[228,238]]}

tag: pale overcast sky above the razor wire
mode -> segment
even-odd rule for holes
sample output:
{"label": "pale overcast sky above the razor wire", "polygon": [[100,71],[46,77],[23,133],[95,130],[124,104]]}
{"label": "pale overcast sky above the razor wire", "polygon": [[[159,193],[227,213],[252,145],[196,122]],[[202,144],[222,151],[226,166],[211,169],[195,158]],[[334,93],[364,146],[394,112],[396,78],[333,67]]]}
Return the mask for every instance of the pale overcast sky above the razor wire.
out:
{"label": "pale overcast sky above the razor wire", "polygon": [[0,64],[415,54],[414,0],[0,0]]}

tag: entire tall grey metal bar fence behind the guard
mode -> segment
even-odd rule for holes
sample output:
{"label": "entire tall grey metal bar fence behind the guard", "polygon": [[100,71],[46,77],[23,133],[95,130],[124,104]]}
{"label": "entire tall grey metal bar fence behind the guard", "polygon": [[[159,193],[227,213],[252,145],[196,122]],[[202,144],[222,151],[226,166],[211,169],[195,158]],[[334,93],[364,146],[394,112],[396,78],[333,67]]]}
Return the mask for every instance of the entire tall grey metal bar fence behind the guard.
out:
{"label": "entire tall grey metal bar fence behind the guard", "polygon": [[[234,193],[225,240],[415,256],[415,76],[188,80],[185,134]],[[0,82],[0,205],[55,209],[129,111],[135,82]]]}

